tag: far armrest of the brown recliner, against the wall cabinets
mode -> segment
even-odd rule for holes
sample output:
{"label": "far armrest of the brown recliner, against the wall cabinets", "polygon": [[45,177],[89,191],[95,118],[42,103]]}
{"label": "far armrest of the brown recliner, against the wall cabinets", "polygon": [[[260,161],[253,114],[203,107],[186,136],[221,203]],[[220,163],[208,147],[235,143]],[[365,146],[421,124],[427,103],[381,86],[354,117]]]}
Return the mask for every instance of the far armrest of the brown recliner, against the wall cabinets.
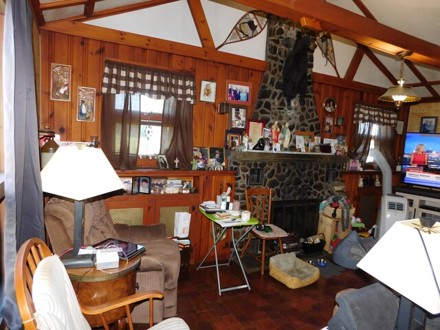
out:
{"label": "far armrest of the brown recliner, against the wall cabinets", "polygon": [[163,241],[166,239],[165,223],[154,223],[153,225],[115,223],[114,228],[122,241],[142,244],[148,241]]}

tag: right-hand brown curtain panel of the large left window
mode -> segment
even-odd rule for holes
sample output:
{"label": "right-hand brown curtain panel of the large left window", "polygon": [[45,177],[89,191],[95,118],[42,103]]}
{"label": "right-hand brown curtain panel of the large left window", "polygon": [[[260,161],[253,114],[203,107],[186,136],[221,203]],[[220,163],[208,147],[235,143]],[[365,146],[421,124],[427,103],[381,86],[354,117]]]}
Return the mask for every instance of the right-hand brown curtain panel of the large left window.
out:
{"label": "right-hand brown curtain panel of the large left window", "polygon": [[[179,158],[179,168],[190,168],[192,161],[192,104],[176,98],[164,102],[162,119],[162,144],[169,164]],[[171,166],[171,165],[170,165]]]}

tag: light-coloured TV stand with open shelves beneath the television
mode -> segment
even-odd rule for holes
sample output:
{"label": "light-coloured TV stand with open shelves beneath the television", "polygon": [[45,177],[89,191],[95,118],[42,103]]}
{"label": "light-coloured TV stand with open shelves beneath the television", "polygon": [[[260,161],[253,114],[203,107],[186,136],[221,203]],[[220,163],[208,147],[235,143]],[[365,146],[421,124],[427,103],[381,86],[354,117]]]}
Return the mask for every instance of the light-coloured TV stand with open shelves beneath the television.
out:
{"label": "light-coloured TV stand with open shelves beneath the television", "polygon": [[410,219],[431,217],[440,221],[440,191],[414,188],[408,186],[395,187],[397,195],[408,199],[408,215]]}

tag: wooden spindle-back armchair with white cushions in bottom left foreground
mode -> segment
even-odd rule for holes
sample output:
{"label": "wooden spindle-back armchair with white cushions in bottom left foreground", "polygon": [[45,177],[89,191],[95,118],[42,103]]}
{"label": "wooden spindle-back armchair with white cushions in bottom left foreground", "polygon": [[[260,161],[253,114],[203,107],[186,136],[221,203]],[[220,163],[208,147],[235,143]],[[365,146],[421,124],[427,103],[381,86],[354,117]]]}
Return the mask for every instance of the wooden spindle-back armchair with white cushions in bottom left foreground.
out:
{"label": "wooden spindle-back armchair with white cushions in bottom left foreground", "polygon": [[[45,261],[43,261],[44,259]],[[19,253],[17,254],[17,260],[15,263],[15,290],[17,294],[17,303],[19,305],[21,318],[23,320],[23,325],[26,330],[36,330],[36,318],[39,318],[39,313],[36,313],[36,307],[34,305],[34,301],[32,300],[33,290],[35,290],[36,292],[39,291],[39,287],[36,286],[37,284],[34,286],[34,274],[36,274],[36,272],[38,274],[37,276],[35,276],[35,283],[38,283],[40,285],[44,281],[47,283],[53,282],[48,285],[52,289],[52,291],[56,292],[57,287],[59,287],[60,290],[64,289],[65,292],[67,292],[67,295],[72,294],[74,296],[72,283],[70,283],[67,272],[58,256],[52,256],[52,252],[50,252],[47,245],[43,241],[41,241],[41,239],[33,238],[23,243],[19,250]],[[44,276],[44,274],[47,274],[47,276]],[[61,274],[61,276],[51,276],[51,274]],[[60,281],[60,277],[63,278],[63,276],[65,277],[64,282]],[[49,295],[49,292],[50,291],[48,291],[47,295]],[[109,330],[109,325],[107,325],[107,323],[105,322],[103,314],[106,311],[111,311],[113,309],[123,307],[126,309],[129,329],[133,330],[133,322],[131,320],[130,314],[130,310],[133,307],[133,304],[143,300],[150,300],[150,329],[189,329],[184,320],[181,320],[180,318],[168,318],[167,320],[159,322],[159,324],[153,327],[153,299],[160,299],[163,298],[163,296],[164,295],[162,294],[162,292],[152,290],[148,292],[133,294],[131,296],[120,298],[118,300],[114,300],[98,306],[81,305],[75,297],[73,304],[74,307],[79,307],[79,315],[74,313],[75,308],[67,308],[64,313],[68,315],[69,318],[74,318],[76,321],[75,323],[84,326],[81,327],[81,329],[90,329],[90,326],[87,324],[87,321],[85,320],[83,314],[98,315],[102,320],[102,325],[104,326],[104,329]],[[70,303],[72,303],[72,301]],[[64,306],[61,305],[54,305],[54,309],[62,309],[63,307]],[[81,312],[83,314],[81,314]]]}

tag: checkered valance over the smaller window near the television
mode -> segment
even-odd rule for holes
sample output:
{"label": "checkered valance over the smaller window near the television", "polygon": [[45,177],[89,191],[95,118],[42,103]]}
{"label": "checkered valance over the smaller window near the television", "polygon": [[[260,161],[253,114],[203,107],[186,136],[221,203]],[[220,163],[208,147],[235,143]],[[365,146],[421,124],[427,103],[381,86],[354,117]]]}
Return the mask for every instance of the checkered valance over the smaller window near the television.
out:
{"label": "checkered valance over the smaller window near the television", "polygon": [[393,126],[397,124],[397,113],[378,107],[375,104],[356,103],[353,123],[362,124],[371,122],[380,126]]}

